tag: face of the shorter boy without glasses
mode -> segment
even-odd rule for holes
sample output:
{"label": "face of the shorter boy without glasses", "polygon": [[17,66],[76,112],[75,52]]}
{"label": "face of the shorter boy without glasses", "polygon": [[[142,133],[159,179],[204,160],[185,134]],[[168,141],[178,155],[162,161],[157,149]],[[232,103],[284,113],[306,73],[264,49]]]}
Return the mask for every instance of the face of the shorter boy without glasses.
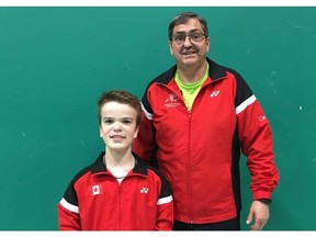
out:
{"label": "face of the shorter boy without glasses", "polygon": [[106,148],[124,150],[132,147],[139,127],[136,126],[137,112],[128,104],[108,102],[101,108],[100,135]]}

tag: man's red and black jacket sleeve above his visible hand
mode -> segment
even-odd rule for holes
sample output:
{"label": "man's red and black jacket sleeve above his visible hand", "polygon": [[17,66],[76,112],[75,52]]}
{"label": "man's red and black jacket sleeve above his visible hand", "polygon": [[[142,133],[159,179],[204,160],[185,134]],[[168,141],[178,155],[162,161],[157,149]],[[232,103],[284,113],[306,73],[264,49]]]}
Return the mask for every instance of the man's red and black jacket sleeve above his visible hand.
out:
{"label": "man's red and black jacket sleeve above his visible hand", "polygon": [[[250,88],[242,80],[237,90],[238,136],[242,154],[248,158],[253,200],[270,199],[279,182],[274,163],[272,131],[263,110]],[[239,93],[239,94],[238,94]]]}

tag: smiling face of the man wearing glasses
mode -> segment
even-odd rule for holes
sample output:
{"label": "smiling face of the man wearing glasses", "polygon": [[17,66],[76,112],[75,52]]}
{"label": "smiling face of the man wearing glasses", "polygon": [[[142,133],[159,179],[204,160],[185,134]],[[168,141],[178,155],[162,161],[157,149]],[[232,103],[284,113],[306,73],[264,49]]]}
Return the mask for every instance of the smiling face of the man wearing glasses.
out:
{"label": "smiling face of the man wearing glasses", "polygon": [[210,49],[210,38],[205,37],[201,22],[190,19],[187,23],[173,27],[169,47],[180,67],[195,66],[204,64]]}

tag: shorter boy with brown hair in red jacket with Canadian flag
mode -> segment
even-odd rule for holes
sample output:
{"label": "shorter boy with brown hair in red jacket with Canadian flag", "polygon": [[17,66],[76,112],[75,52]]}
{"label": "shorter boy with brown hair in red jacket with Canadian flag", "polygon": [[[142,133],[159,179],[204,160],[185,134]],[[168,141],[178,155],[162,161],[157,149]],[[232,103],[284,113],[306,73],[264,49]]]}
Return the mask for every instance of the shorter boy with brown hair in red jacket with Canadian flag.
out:
{"label": "shorter boy with brown hair in red jacket with Canadian flag", "polygon": [[92,165],[78,172],[58,203],[60,230],[171,230],[169,183],[132,153],[140,102],[127,91],[104,92],[98,102],[105,144]]}

